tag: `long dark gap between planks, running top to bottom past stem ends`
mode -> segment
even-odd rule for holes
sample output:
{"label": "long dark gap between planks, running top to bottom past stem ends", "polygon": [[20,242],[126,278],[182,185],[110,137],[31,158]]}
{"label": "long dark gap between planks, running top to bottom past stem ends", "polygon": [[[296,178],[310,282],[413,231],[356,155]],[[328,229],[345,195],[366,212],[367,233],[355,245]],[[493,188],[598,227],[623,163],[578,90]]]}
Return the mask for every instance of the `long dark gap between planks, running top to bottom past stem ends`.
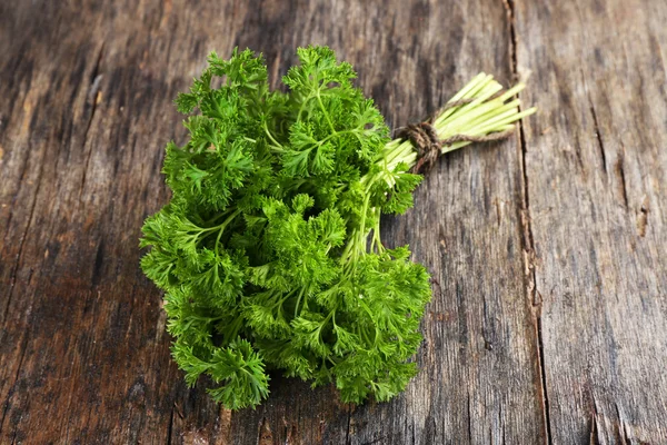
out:
{"label": "long dark gap between planks, running top to bottom past stem ends", "polygon": [[[517,72],[517,48],[518,48],[518,37],[516,31],[516,14],[515,14],[515,3],[514,0],[504,0],[502,1],[506,10],[506,17],[509,22],[509,34],[510,34],[510,44],[509,44],[509,58],[510,58],[510,69],[515,78],[518,78]],[[517,95],[518,96],[518,95]],[[520,106],[519,106],[520,110]],[[544,343],[542,343],[542,326],[541,326],[541,300],[535,307],[536,298],[538,296],[537,291],[537,280],[535,274],[535,240],[532,236],[531,220],[530,220],[530,199],[529,199],[529,187],[528,187],[528,171],[526,167],[526,155],[527,155],[527,146],[526,146],[526,136],[524,134],[524,125],[519,120],[517,122],[517,128],[519,130],[519,149],[521,154],[521,206],[520,206],[520,215],[519,215],[519,224],[522,231],[522,245],[525,251],[525,270],[526,270],[526,299],[529,301],[529,308],[532,314],[532,324],[536,332],[536,343],[537,343],[537,368],[539,370],[539,392],[541,397],[541,411],[542,411],[542,422],[544,422],[544,435],[545,442],[547,444],[551,444],[551,422],[549,416],[549,396],[547,390],[547,379],[545,372],[545,356],[544,356]]]}

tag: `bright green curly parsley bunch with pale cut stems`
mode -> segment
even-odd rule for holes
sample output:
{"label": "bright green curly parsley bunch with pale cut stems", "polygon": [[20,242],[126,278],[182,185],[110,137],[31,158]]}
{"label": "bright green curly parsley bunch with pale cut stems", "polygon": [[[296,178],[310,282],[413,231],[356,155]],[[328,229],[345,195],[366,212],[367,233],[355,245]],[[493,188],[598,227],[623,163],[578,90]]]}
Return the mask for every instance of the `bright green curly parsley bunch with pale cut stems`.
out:
{"label": "bright green curly parsley bunch with pale cut stems", "polygon": [[[408,172],[411,144],[390,140],[349,63],[326,47],[298,56],[280,92],[250,50],[210,55],[176,100],[190,139],[167,146],[172,198],[142,229],[173,358],[231,409],[267,397],[269,369],[335,383],[344,402],[394,397],[416,374],[431,295],[407,247],[380,240],[380,215],[408,209],[421,179]],[[520,88],[498,96],[478,76],[452,99],[470,100],[436,119],[438,135],[511,128],[531,112],[507,102]]]}

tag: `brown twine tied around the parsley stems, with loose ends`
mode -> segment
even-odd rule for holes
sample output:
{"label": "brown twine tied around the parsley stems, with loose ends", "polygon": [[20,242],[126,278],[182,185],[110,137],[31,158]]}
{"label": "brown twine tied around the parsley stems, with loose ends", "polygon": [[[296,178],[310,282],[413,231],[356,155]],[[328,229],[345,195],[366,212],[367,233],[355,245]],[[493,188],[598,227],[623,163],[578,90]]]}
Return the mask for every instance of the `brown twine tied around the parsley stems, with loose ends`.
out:
{"label": "brown twine tied around the parsley stems, with loose ends", "polygon": [[[496,95],[494,95],[496,96]],[[489,98],[489,99],[492,99]],[[445,105],[434,116],[439,116],[444,111],[470,103],[475,99],[461,99]],[[422,167],[426,171],[430,170],[436,164],[442,147],[451,146],[456,142],[488,142],[491,140],[506,139],[514,134],[514,130],[492,132],[486,136],[471,135],[454,135],[447,139],[439,139],[436,127],[434,127],[434,116],[419,123],[408,123],[406,127],[397,128],[394,137],[397,139],[409,140],[417,149],[417,164],[410,169],[411,172],[418,174]]]}

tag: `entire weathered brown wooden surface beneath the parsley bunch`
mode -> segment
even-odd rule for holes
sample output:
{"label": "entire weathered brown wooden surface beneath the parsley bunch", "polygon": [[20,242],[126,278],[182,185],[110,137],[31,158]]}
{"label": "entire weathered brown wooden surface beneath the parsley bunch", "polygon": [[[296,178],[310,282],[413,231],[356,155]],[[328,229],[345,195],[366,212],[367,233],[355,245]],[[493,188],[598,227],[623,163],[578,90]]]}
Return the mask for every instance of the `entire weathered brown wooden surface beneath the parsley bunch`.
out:
{"label": "entire weathered brown wooden surface beneath the parsley bunch", "polygon": [[[667,4],[374,3],[0,2],[0,443],[667,443]],[[276,80],[308,43],[391,126],[481,70],[530,72],[540,111],[384,222],[435,278],[404,395],[275,376],[231,414],[171,363],[139,229],[206,55],[262,51]]]}

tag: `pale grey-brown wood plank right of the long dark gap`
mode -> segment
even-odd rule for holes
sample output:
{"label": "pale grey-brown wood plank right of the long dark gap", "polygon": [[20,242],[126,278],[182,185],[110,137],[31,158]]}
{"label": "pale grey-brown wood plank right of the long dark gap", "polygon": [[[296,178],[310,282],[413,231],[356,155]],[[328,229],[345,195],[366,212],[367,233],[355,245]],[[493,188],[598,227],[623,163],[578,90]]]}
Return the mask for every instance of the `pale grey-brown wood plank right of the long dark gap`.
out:
{"label": "pale grey-brown wood plank right of the long dark gap", "polygon": [[666,443],[666,4],[515,12],[551,439]]}

